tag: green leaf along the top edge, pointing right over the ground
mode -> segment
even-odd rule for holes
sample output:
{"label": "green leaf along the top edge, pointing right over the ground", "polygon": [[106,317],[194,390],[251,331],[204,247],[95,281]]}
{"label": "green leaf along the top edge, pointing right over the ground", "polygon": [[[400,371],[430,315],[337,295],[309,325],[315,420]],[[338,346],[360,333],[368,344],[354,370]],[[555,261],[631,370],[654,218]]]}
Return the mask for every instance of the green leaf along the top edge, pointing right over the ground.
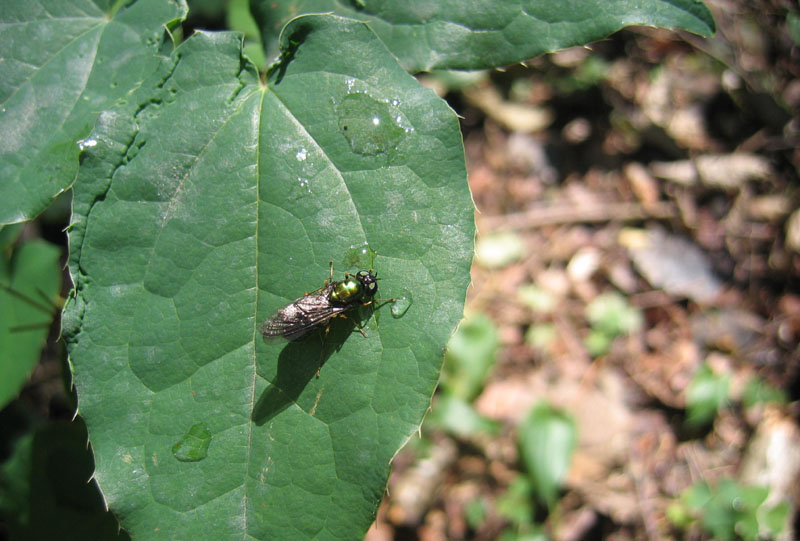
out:
{"label": "green leaf along the top edge, pointing right over the ground", "polygon": [[299,13],[333,11],[369,22],[411,72],[481,69],[584,45],[631,25],[714,32],[700,0],[250,0],[271,51]]}

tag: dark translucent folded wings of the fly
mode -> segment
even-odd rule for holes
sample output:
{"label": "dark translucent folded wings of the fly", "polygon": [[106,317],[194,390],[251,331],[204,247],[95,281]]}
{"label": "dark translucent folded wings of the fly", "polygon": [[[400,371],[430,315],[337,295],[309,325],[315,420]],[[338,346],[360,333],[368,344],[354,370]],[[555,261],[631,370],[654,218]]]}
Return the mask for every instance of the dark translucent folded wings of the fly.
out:
{"label": "dark translucent folded wings of the fly", "polygon": [[345,310],[345,307],[331,304],[328,295],[332,289],[329,284],[295,299],[261,324],[261,334],[265,338],[280,336],[288,340],[304,337],[317,325]]}

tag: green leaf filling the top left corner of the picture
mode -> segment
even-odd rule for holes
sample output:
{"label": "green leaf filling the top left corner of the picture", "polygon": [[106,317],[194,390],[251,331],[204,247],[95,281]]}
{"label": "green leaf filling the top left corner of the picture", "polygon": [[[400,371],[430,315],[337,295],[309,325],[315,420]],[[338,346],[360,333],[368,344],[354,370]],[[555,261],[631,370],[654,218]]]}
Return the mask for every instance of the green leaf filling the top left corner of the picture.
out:
{"label": "green leaf filling the top left corner of the picture", "polygon": [[183,0],[0,2],[0,223],[72,184],[78,140],[149,75]]}

